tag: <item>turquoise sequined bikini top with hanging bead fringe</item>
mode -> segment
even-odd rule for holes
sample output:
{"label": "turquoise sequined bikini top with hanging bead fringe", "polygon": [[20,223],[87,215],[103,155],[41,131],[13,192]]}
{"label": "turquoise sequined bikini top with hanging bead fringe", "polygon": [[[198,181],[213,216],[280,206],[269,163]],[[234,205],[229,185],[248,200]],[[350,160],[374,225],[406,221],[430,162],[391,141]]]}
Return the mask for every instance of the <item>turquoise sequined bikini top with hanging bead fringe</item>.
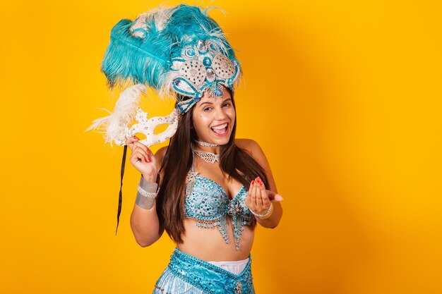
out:
{"label": "turquoise sequined bikini top with hanging bead fringe", "polygon": [[229,200],[224,188],[215,180],[198,176],[191,170],[187,174],[186,183],[186,218],[196,219],[196,225],[201,228],[217,227],[225,243],[229,243],[227,238],[227,215],[232,217],[232,229],[235,242],[235,248],[239,250],[244,225],[249,226],[252,214],[244,200],[247,197],[247,190],[244,185],[239,189],[237,195]]}

